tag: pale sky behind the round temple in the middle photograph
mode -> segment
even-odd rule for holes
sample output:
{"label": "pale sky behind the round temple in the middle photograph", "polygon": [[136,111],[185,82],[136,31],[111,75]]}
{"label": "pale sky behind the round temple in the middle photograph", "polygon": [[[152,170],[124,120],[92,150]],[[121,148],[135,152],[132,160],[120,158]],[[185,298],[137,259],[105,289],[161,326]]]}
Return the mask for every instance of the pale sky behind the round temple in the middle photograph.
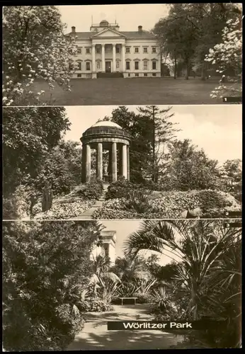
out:
{"label": "pale sky behind the round temple in the middle photograph", "polygon": [[[136,105],[127,106],[137,112]],[[159,105],[167,108],[167,105]],[[199,149],[203,148],[210,159],[220,164],[227,159],[241,159],[242,152],[242,109],[241,105],[173,105],[172,122],[177,122],[180,140],[190,139]],[[116,105],[66,106],[67,116],[72,123],[64,139],[80,142],[83,132],[98,119],[110,116]],[[80,142],[81,143],[81,142]]]}

